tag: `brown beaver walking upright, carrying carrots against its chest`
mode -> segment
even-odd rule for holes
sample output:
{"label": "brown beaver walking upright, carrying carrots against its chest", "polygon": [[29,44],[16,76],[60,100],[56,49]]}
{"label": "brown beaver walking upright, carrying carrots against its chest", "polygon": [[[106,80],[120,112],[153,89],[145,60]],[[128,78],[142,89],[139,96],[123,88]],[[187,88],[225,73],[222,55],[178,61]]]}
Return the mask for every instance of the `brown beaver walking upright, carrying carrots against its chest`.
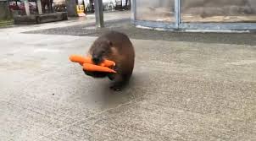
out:
{"label": "brown beaver walking upright, carrying carrots against its chest", "polygon": [[120,91],[129,82],[135,62],[134,47],[127,35],[118,31],[108,31],[97,37],[87,55],[92,57],[92,62],[100,64],[104,59],[115,62],[114,70],[117,73],[87,72],[93,78],[109,77],[114,81],[110,89]]}

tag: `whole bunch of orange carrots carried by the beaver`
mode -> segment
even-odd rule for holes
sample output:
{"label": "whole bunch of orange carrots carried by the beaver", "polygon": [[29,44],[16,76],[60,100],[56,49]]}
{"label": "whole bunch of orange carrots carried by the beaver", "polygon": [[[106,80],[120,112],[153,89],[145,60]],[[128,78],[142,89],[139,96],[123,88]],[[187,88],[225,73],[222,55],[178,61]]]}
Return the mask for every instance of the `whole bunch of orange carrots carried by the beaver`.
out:
{"label": "whole bunch of orange carrots carried by the beaver", "polygon": [[110,60],[104,60],[101,64],[95,65],[92,62],[91,57],[81,57],[79,55],[71,55],[71,62],[78,62],[83,66],[83,69],[90,72],[105,72],[105,73],[116,73],[111,67],[114,67],[115,62]]}

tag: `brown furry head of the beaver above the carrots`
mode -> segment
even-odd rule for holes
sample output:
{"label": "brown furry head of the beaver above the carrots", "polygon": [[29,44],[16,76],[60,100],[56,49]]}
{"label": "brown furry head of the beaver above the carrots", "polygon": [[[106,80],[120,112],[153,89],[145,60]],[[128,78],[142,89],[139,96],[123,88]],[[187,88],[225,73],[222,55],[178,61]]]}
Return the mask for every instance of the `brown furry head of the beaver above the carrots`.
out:
{"label": "brown furry head of the beaver above the carrots", "polygon": [[111,41],[100,41],[93,45],[92,62],[99,64],[109,57],[112,47]]}

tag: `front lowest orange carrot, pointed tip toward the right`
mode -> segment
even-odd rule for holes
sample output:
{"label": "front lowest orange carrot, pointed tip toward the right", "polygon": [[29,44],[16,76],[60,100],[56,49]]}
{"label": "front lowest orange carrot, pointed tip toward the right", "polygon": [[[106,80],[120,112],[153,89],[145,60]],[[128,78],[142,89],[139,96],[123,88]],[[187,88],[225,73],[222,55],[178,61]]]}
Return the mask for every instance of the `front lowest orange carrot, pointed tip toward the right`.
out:
{"label": "front lowest orange carrot, pointed tip toward the right", "polygon": [[97,66],[91,63],[84,63],[83,68],[86,71],[92,71],[92,72],[106,72],[106,73],[116,73],[113,69],[107,68],[107,67],[102,67],[102,66]]}

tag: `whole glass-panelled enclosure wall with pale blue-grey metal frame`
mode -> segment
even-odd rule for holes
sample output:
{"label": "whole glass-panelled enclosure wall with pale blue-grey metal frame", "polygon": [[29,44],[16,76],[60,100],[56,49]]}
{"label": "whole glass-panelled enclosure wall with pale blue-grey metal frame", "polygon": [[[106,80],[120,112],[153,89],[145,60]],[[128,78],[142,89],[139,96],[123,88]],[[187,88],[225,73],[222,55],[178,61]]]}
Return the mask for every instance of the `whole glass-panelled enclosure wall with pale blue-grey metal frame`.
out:
{"label": "whole glass-panelled enclosure wall with pale blue-grey metal frame", "polygon": [[173,30],[256,30],[256,0],[132,0],[131,22]]}

